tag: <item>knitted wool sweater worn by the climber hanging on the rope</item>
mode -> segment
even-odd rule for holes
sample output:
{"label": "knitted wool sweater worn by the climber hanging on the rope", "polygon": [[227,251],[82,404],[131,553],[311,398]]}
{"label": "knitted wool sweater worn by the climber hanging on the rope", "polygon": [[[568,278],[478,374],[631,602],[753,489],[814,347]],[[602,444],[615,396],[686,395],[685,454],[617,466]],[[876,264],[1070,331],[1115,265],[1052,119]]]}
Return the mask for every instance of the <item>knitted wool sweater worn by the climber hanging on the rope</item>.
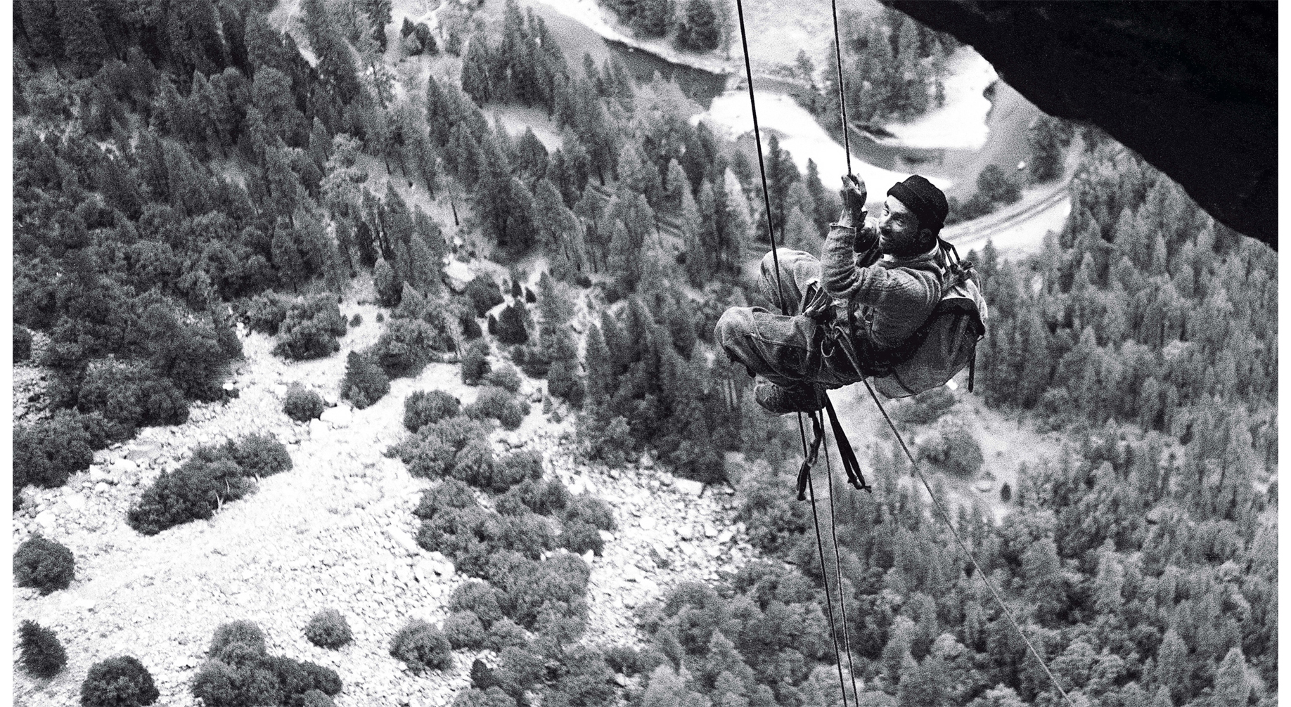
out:
{"label": "knitted wool sweater worn by the climber hanging on the rope", "polygon": [[[866,219],[864,228],[877,228]],[[821,253],[825,292],[835,301],[857,307],[856,332],[880,348],[897,346],[932,315],[941,299],[940,249],[905,258],[883,255],[878,239],[869,250],[856,252],[856,228],[830,226]]]}

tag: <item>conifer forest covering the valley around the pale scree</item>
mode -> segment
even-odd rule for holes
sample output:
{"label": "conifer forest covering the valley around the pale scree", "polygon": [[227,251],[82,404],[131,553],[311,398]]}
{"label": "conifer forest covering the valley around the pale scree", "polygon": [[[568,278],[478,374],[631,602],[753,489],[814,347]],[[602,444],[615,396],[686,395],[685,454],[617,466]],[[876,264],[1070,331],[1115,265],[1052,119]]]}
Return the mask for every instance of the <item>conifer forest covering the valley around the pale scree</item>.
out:
{"label": "conifer forest covering the valley around the pale scree", "polygon": [[[613,9],[717,46],[717,5],[656,5]],[[239,323],[275,337],[281,359],[336,355],[358,324],[338,298],[371,283],[382,333],[349,354],[355,409],[434,361],[460,363],[482,390],[461,409],[409,397],[409,436],[387,453],[443,479],[417,510],[417,542],[476,579],[454,592],[443,631],[409,626],[392,649],[423,670],[451,664],[449,645],[492,650],[458,707],[840,704],[821,583],[828,574],[837,590],[835,572],[860,706],[1062,703],[926,497],[900,483],[910,468],[887,432],[862,459],[874,493],[835,498],[839,563],[821,566],[809,506],[793,499],[797,426],[763,414],[751,379],[714,347],[727,307],[767,304],[741,270],[764,252],[768,221],[782,243],[818,253],[840,205],[824,186],[833,175],[800,173],[772,137],[764,213],[757,166],[691,123],[675,84],[563,55],[515,0],[492,23],[454,8],[434,31],[400,31],[390,0],[303,0],[300,36],[271,23],[274,9],[14,4],[14,359],[48,375],[44,412],[13,431],[14,511],[25,488],[62,486],[96,450],[236,396],[225,381],[243,356]],[[895,12],[882,22],[847,32],[855,70],[871,77],[849,83],[857,120],[939,101],[940,35]],[[421,55],[451,55],[460,71],[413,83],[390,68]],[[880,80],[900,62],[922,68]],[[829,71],[821,115],[835,115]],[[516,105],[550,116],[559,147],[493,117]],[[953,393],[1057,432],[1062,454],[1019,475],[1002,520],[964,503],[957,528],[1073,704],[1276,704],[1277,255],[1096,128],[1074,129],[1083,152],[1061,231],[1024,258],[991,245],[966,254],[990,333],[976,392]],[[513,275],[458,290],[448,257]],[[523,286],[519,263],[534,257],[546,270]],[[491,421],[514,428],[529,413],[518,370],[546,379],[544,406],[574,418],[587,462],[648,453],[678,476],[731,484],[762,556],[642,608],[639,645],[585,636],[589,570],[574,553],[599,555],[615,520],[600,499],[542,481],[533,458],[494,458],[480,441]],[[292,395],[288,414],[318,415],[319,401]],[[944,405],[920,396],[895,410],[913,431]],[[971,436],[945,439],[940,457],[926,454],[935,472],[982,466],[980,452],[963,459]],[[248,479],[290,468],[275,444],[201,448],[145,494],[132,526],[210,517],[249,493]],[[545,523],[563,530],[544,534]],[[36,628],[26,642],[52,640]],[[238,631],[257,630],[217,633],[212,654],[256,642],[229,637]],[[341,690],[334,673],[284,667],[294,662],[265,654],[262,636],[258,646],[243,663],[219,653],[219,670],[303,671],[303,689],[238,692],[205,671],[194,694],[324,704]],[[146,682],[141,694],[151,686],[125,663],[90,677],[110,682],[110,670]],[[639,679],[624,686],[616,673]]]}

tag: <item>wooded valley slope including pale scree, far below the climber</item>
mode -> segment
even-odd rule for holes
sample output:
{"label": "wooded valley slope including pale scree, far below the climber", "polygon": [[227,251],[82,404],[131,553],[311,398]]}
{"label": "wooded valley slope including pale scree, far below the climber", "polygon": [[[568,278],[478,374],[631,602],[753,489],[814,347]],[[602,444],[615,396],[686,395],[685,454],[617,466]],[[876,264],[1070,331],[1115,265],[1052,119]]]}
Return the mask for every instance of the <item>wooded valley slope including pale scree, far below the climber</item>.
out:
{"label": "wooded valley slope including pale scree, far below the climber", "polygon": [[[616,12],[704,43],[706,1]],[[1277,702],[1276,253],[1038,116],[944,232],[984,240],[975,390],[886,404],[955,535],[864,387],[873,493],[830,454],[800,503],[714,334],[833,178],[769,134],[764,196],[527,9],[17,5],[17,702]],[[939,35],[847,37],[859,116],[931,110]]]}

